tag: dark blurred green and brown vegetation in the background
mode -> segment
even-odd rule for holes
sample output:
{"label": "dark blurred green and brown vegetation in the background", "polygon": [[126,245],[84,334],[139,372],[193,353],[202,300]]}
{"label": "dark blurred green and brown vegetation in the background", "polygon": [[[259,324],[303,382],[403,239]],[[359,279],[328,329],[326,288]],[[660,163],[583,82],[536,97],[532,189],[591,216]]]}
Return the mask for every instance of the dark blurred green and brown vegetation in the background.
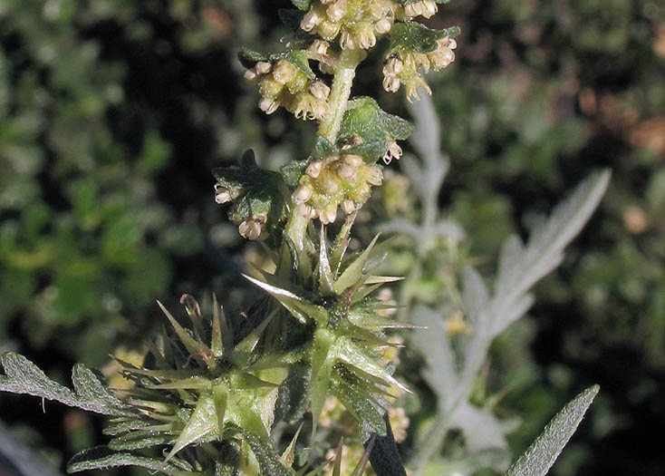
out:
{"label": "dark blurred green and brown vegetation in the background", "polygon": [[[261,116],[241,84],[238,46],[279,40],[265,36],[277,24],[268,4],[0,3],[3,350],[41,355],[52,374],[72,360],[100,366],[140,345],[155,298],[236,286],[226,265],[242,250],[209,170],[249,146],[276,167],[312,134],[285,133],[289,118]],[[657,474],[665,461],[646,435],[665,424],[665,6],[456,0],[432,21],[462,26],[458,60],[429,82],[451,160],[439,205],[467,237],[417,287],[452,288],[456,259],[495,263],[510,232],[525,236],[589,170],[612,168],[600,213],[537,288],[532,318],[496,342],[475,396],[523,419],[509,437],[517,452],[599,383],[585,443],[554,472]],[[406,201],[386,216],[414,213],[403,180],[387,181]],[[35,407],[10,415],[17,402],[3,396],[0,416],[42,418]],[[81,415],[59,411],[43,436],[54,458],[94,438]]]}

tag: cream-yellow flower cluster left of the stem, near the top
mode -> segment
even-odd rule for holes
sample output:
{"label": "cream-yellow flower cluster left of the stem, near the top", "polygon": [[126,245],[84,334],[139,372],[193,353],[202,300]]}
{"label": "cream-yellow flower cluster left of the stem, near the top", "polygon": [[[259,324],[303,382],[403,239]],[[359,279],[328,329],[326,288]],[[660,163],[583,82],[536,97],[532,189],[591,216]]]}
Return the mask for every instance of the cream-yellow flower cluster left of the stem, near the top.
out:
{"label": "cream-yellow flower cluster left of the stem, near the top", "polygon": [[258,85],[258,107],[266,114],[284,106],[297,119],[321,120],[327,111],[330,87],[320,80],[310,80],[288,59],[260,61],[246,71],[247,82]]}

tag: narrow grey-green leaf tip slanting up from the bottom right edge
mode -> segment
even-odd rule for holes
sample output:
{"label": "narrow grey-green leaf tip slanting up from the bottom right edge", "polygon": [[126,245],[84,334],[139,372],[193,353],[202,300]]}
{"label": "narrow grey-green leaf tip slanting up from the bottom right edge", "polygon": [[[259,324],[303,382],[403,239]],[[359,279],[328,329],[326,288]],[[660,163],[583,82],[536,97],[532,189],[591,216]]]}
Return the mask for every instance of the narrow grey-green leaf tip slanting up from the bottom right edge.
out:
{"label": "narrow grey-green leaf tip slanting up from the bottom right edge", "polygon": [[557,413],[545,431],[535,439],[528,450],[506,472],[506,476],[541,476],[552,467],[554,461],[570,440],[584,413],[593,402],[600,387],[593,385],[577,395]]}

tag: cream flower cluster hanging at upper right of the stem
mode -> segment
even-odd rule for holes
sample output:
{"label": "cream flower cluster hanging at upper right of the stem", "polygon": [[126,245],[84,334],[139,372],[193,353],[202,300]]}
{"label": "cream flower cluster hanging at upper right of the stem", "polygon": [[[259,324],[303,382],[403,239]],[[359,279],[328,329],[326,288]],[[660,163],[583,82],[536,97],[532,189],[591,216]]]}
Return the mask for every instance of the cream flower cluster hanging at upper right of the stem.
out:
{"label": "cream flower cluster hanging at upper right of the stem", "polygon": [[453,50],[457,47],[455,40],[445,36],[437,41],[437,49],[430,53],[400,51],[390,54],[383,65],[383,89],[397,92],[403,84],[410,102],[419,100],[418,87],[431,94],[422,74],[428,73],[430,68],[439,71],[455,61]]}

